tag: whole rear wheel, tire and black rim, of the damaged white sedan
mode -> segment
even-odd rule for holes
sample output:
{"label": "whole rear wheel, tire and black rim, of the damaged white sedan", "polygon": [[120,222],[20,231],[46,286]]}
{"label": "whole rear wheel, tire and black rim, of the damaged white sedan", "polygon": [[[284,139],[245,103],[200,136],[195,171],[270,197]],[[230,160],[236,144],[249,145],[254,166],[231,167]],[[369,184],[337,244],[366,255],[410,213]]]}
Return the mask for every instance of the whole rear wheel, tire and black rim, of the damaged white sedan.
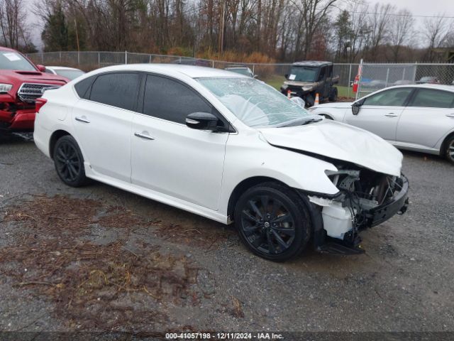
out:
{"label": "whole rear wheel, tire and black rim, of the damaged white sedan", "polygon": [[71,187],[87,185],[84,157],[74,137],[66,135],[57,140],[53,159],[55,171],[63,183]]}

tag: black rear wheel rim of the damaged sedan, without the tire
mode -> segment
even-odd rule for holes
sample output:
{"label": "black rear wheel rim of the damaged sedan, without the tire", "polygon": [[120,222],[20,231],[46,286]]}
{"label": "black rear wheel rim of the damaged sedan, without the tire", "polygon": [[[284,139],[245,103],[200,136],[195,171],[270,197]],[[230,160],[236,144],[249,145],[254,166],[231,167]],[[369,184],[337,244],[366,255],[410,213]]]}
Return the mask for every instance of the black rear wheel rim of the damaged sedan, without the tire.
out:
{"label": "black rear wheel rim of the damaged sedan, without the tire", "polygon": [[67,142],[59,144],[55,151],[57,172],[63,180],[73,182],[79,177],[82,165],[76,148]]}

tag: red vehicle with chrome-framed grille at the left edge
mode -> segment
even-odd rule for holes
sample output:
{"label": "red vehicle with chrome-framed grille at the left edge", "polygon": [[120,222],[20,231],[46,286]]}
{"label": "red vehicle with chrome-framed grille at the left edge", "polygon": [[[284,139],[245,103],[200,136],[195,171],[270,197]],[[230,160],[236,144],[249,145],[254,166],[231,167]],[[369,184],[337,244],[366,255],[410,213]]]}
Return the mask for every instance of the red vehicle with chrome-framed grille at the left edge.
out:
{"label": "red vehicle with chrome-framed grille at the left edge", "polygon": [[24,55],[0,46],[0,134],[33,131],[35,99],[50,87],[61,87],[69,80],[45,73]]}

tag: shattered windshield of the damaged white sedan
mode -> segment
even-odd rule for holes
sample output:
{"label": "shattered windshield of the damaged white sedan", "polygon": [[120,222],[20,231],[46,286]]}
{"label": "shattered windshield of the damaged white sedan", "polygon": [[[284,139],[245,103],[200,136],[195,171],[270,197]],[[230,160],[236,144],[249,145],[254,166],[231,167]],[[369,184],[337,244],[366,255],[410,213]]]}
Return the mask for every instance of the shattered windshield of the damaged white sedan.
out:
{"label": "shattered windshield of the damaged white sedan", "polygon": [[206,77],[197,80],[250,127],[283,126],[309,116],[309,112],[283,94],[253,78]]}

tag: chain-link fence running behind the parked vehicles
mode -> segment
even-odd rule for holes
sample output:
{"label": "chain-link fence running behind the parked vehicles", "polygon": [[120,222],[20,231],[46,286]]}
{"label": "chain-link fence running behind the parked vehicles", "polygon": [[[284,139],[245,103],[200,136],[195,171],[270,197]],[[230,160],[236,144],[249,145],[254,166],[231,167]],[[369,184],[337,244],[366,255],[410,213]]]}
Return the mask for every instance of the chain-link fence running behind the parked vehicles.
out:
{"label": "chain-link fence running behind the parked vehicles", "polygon": [[[288,64],[233,63],[219,60],[179,57],[176,55],[153,55],[130,52],[47,52],[28,54],[34,63],[48,66],[77,67],[84,71],[99,67],[133,63],[177,63],[225,69],[233,65],[245,65],[258,79],[279,89],[288,73]],[[339,76],[340,97],[355,98],[353,81],[358,74],[358,63],[334,63],[333,75]],[[392,85],[433,82],[451,85],[454,82],[454,64],[362,64],[362,77],[358,87],[358,98]]]}

